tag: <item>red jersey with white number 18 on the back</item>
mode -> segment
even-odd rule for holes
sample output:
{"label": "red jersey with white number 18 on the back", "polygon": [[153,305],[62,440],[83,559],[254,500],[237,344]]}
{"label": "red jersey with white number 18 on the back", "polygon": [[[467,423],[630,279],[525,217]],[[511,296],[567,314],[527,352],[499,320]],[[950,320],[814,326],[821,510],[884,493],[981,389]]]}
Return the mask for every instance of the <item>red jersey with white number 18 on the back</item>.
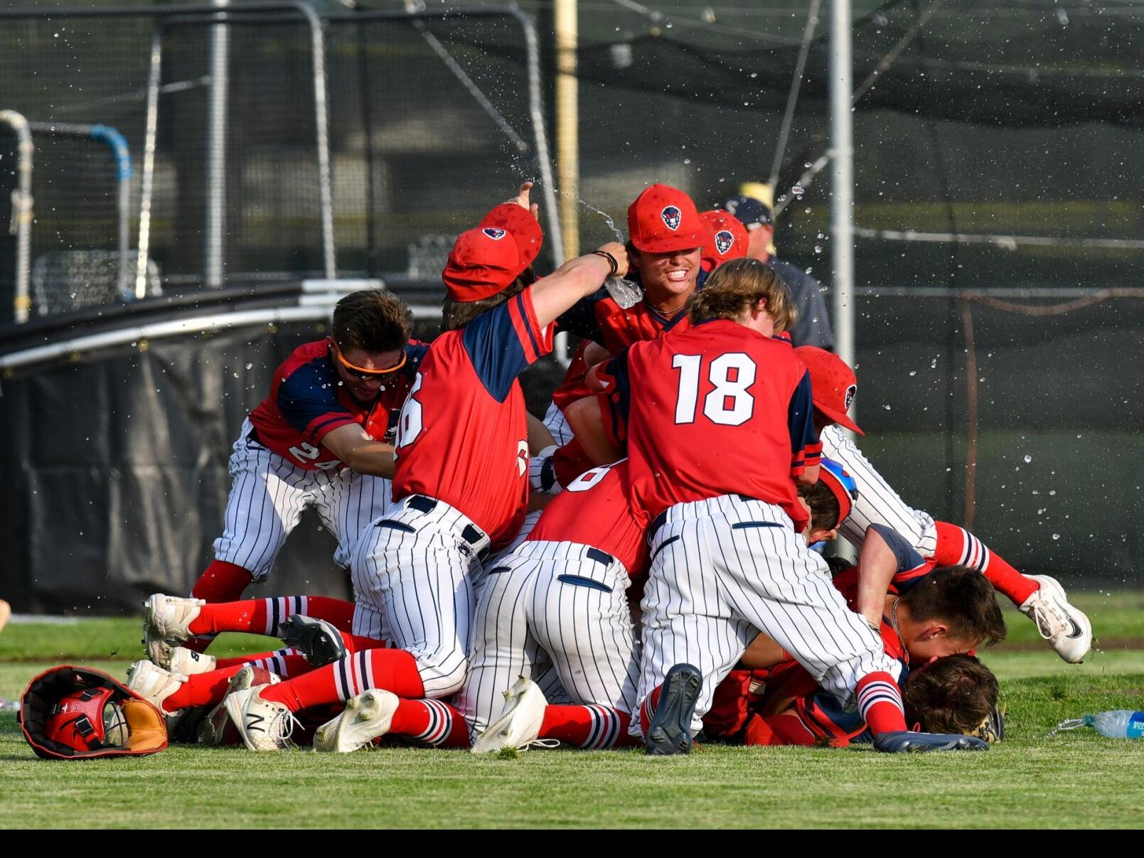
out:
{"label": "red jersey with white number 18 on the back", "polygon": [[817,464],[810,376],[791,343],[712,319],[635,343],[597,371],[625,430],[637,516],[741,494],[808,522],[792,476]]}

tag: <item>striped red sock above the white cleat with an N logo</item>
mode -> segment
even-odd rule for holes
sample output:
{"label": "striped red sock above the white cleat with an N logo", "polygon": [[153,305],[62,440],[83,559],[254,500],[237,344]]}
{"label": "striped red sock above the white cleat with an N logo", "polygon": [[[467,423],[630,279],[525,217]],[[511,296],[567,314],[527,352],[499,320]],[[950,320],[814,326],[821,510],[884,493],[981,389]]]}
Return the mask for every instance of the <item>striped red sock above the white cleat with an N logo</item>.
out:
{"label": "striped red sock above the white cleat with an N logo", "polygon": [[365,650],[304,676],[271,685],[262,697],[297,712],[310,706],[344,702],[367,689],[384,689],[412,699],[426,693],[418,662],[405,650]]}

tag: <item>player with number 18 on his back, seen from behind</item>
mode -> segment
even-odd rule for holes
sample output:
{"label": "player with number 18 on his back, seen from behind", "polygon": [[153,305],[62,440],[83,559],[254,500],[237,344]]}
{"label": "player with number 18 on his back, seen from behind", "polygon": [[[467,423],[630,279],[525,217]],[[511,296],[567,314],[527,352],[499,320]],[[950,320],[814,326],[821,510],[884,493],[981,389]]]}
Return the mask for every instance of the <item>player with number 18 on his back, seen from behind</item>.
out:
{"label": "player with number 18 on his back, seen from behind", "polygon": [[630,499],[651,522],[633,731],[650,754],[690,752],[714,688],[762,630],[857,706],[880,750],[984,747],[906,732],[897,665],[799,535],[809,516],[792,478],[812,484],[819,466],[810,379],[774,337],[792,316],[786,287],[734,260],[690,307],[691,327],[591,373],[626,427]]}

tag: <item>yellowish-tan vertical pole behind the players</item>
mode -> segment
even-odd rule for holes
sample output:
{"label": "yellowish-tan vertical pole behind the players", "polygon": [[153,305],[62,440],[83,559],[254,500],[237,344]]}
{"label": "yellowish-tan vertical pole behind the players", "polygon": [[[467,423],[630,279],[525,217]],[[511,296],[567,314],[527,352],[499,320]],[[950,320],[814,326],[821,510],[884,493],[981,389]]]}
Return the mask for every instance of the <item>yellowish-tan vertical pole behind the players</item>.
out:
{"label": "yellowish-tan vertical pole behind the players", "polygon": [[561,189],[564,252],[580,255],[580,127],[577,81],[577,0],[555,0],[556,172]]}

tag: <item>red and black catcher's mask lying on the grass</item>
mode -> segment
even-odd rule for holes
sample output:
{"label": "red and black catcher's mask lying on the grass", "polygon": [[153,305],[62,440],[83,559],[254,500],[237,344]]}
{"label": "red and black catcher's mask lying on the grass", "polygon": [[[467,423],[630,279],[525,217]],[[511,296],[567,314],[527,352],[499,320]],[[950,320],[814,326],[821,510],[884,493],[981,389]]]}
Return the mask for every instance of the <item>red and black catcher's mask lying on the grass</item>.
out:
{"label": "red and black catcher's mask lying on the grass", "polygon": [[19,726],[37,756],[138,756],[167,747],[162,714],[102,670],[61,665],[32,680]]}

